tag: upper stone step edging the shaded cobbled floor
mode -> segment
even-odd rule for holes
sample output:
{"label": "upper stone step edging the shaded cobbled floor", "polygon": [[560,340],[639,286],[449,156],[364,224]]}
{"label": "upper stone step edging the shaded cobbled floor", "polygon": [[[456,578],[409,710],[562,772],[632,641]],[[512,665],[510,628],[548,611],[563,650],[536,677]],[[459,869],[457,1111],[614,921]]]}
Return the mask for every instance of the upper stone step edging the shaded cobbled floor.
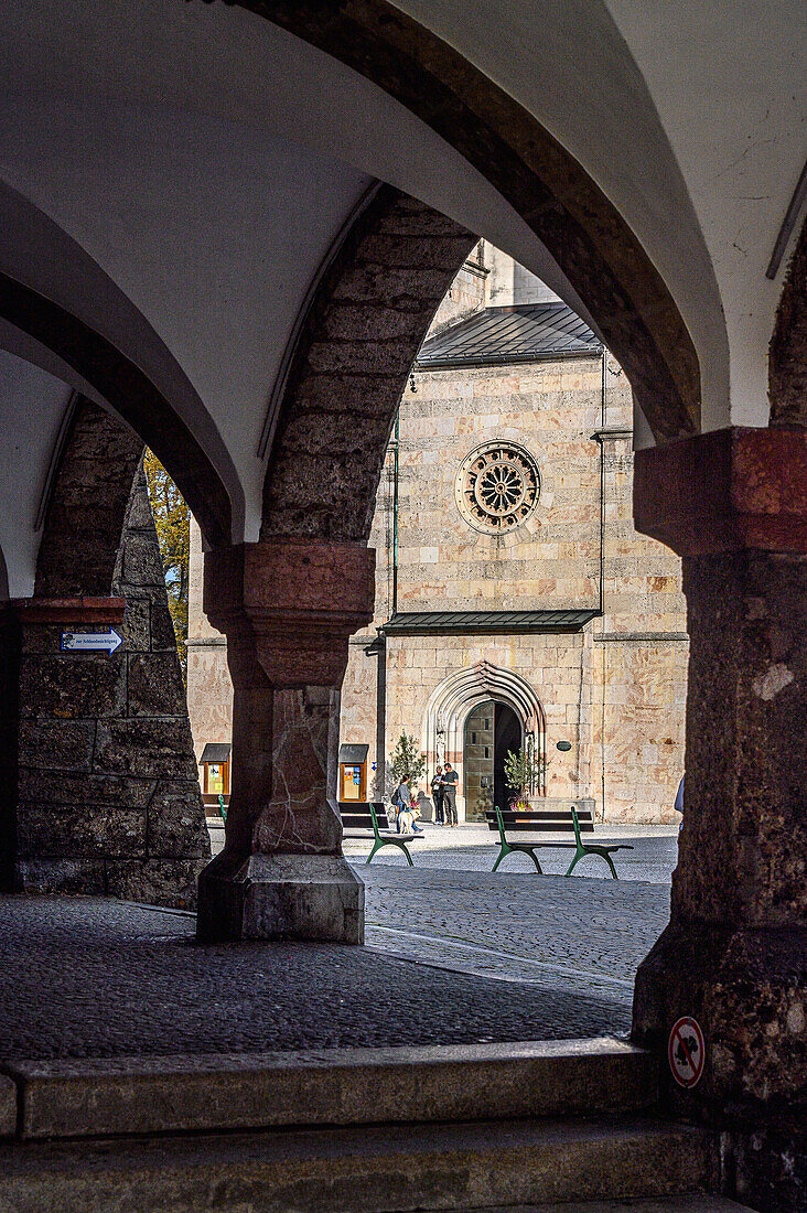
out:
{"label": "upper stone step edging the shaded cobbled floor", "polygon": [[527,1041],[307,1053],[21,1061],[18,1135],[104,1137],[284,1126],[637,1111],[657,1063],[624,1041]]}

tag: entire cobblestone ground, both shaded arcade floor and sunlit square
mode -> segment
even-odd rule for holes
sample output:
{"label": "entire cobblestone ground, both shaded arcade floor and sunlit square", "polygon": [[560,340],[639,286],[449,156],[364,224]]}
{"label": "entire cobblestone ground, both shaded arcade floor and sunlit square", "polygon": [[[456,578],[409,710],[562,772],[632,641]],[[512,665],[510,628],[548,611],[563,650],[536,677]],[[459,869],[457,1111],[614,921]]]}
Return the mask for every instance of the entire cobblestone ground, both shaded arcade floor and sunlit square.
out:
{"label": "entire cobblestone ground, both shaded arcade floor and sunlit square", "polygon": [[415,869],[353,859],[365,949],[200,946],[177,911],[0,898],[0,1059],[625,1033],[675,839],[637,852],[635,871],[664,883],[538,877],[518,856],[491,875],[487,845],[425,842]]}

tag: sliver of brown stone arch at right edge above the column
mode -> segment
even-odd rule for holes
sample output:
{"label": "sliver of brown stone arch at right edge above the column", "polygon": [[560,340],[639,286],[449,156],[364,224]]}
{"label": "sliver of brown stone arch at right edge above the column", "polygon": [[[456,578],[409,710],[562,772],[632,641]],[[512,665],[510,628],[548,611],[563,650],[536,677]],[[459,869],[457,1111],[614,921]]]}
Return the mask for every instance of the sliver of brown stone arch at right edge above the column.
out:
{"label": "sliver of brown stone arch at right edge above the column", "polygon": [[790,260],[771,338],[771,425],[807,429],[807,221]]}

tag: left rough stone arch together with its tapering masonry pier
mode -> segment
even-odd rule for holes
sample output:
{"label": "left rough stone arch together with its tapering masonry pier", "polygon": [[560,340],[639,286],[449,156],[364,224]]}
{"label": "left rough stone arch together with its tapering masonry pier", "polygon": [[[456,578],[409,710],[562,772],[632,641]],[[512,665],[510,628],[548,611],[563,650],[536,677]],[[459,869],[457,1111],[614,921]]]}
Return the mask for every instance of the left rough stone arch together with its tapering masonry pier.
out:
{"label": "left rough stone arch together with its tapering masonry pier", "polygon": [[[142,456],[129,426],[79,398],[35,593],[17,604],[22,644],[0,647],[0,690],[5,661],[18,694],[5,733],[0,717],[16,763],[0,888],[189,909],[210,842]],[[61,649],[62,630],[110,627],[113,653]]]}

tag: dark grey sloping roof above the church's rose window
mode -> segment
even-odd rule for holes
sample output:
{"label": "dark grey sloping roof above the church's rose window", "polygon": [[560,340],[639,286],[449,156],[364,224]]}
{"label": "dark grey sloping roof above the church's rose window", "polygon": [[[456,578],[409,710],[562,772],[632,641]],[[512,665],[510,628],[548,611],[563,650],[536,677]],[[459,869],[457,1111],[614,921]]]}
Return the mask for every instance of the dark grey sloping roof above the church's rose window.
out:
{"label": "dark grey sloping roof above the church's rose window", "polygon": [[420,347],[421,368],[479,366],[598,354],[602,342],[566,303],[487,307]]}

